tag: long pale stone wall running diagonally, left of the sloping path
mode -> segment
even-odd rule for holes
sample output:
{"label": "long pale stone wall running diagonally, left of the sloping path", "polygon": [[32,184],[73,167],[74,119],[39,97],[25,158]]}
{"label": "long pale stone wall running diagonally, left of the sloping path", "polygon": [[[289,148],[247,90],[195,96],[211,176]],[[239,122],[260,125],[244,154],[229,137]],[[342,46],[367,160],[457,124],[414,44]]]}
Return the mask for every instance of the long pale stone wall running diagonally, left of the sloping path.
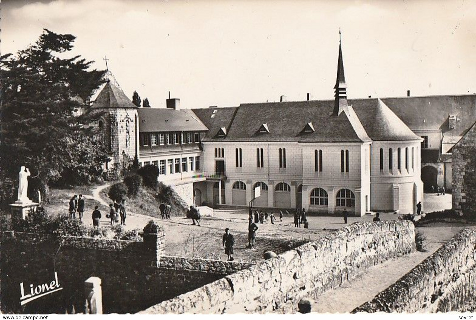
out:
{"label": "long pale stone wall running diagonally, left of the sloping path", "polygon": [[278,310],[304,294],[338,287],[369,266],[414,250],[411,222],[354,223],[139,313]]}

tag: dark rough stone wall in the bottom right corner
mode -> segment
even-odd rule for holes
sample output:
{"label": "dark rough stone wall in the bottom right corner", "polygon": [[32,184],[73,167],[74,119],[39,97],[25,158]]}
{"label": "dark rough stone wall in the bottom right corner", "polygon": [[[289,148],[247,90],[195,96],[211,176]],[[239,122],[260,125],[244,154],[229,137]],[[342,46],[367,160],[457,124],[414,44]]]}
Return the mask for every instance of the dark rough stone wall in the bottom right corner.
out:
{"label": "dark rough stone wall in the bottom right corner", "polygon": [[353,312],[447,312],[476,294],[476,230],[464,229]]}

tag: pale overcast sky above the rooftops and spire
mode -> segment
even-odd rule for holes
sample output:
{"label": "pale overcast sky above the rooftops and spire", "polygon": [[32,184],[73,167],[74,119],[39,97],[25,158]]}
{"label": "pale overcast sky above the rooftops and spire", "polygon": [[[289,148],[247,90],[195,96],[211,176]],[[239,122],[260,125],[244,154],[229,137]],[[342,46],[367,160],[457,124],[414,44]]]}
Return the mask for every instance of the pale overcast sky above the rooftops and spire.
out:
{"label": "pale overcast sky above the rooftops and spire", "polygon": [[103,57],[128,97],[187,108],[332,99],[339,27],[350,98],[476,92],[476,1],[2,0],[1,54],[43,28]]}

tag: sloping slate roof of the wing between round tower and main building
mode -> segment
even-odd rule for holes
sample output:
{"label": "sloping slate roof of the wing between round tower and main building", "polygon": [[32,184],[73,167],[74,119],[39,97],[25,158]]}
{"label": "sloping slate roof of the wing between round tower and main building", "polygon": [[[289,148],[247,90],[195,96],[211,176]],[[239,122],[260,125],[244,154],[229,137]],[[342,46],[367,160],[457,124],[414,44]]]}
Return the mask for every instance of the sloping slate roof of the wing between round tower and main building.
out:
{"label": "sloping slate roof of the wing between round tower and main building", "polygon": [[192,111],[139,108],[139,132],[206,131],[208,128]]}

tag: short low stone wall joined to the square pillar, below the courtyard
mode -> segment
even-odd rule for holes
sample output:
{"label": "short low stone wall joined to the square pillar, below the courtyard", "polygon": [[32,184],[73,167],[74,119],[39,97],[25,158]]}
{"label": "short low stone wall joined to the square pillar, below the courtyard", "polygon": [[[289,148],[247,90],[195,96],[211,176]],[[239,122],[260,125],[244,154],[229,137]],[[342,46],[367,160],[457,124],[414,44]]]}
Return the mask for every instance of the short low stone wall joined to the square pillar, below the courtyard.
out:
{"label": "short low stone wall joined to the square pillar, below the courtyard", "polygon": [[160,268],[201,271],[215,274],[232,274],[253,266],[253,263],[229,262],[209,259],[189,259],[184,257],[161,256]]}

